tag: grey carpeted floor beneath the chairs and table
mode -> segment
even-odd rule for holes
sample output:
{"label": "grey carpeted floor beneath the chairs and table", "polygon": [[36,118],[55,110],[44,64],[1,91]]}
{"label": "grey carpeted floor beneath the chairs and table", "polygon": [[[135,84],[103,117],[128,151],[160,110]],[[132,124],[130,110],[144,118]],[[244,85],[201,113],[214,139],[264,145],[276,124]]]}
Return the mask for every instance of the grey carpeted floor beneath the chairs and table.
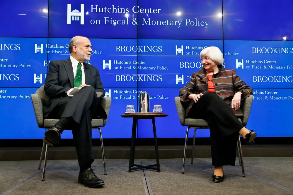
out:
{"label": "grey carpeted floor beneath the chairs and table", "polygon": [[[102,160],[95,160],[95,172],[105,181],[102,188],[86,188],[77,182],[77,160],[49,160],[45,182],[38,161],[0,161],[0,194],[293,194],[293,158],[244,158],[241,167],[224,166],[225,180],[212,182],[210,158],[186,159],[182,174],[182,159],[160,159],[161,172],[137,170],[128,172],[129,160],[106,160],[107,175]],[[136,164],[155,164],[155,159],[138,159]],[[236,159],[238,164],[238,159]]]}

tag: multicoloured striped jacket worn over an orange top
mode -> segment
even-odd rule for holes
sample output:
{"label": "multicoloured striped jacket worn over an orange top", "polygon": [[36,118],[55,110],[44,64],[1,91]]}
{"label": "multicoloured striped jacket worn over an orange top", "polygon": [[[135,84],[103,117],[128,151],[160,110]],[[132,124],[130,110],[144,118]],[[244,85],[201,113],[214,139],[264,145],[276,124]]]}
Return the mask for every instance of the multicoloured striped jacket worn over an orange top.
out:
{"label": "multicoloured striped jacket worn over an orange top", "polygon": [[[235,70],[231,69],[223,69],[223,66],[220,66],[220,71],[217,74],[213,74],[213,83],[216,94],[222,98],[225,102],[231,105],[232,98],[234,94],[237,92],[241,92],[241,105],[243,105],[243,101],[250,94],[252,94],[252,88],[246,85],[244,81],[241,80],[239,76],[236,75]],[[187,83],[187,85],[180,89],[179,96],[182,102],[186,102],[186,116],[190,111],[190,108],[194,104],[194,100],[188,99],[188,95],[190,94],[205,94],[207,93],[207,76],[205,69],[202,68],[198,72],[194,72],[191,76],[191,80]],[[232,108],[231,108],[232,109]],[[234,113],[237,116],[242,116],[243,113],[241,109],[233,109]],[[186,117],[185,116],[185,117]]]}

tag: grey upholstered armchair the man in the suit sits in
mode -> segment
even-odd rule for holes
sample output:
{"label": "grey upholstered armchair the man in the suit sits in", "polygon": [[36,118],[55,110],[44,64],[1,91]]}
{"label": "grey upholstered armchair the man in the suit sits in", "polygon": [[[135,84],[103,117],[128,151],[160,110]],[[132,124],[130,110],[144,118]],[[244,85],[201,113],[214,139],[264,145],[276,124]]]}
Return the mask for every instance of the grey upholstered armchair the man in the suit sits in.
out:
{"label": "grey upholstered armchair the man in the suit sits in", "polygon": [[[45,94],[44,85],[42,85],[36,91],[35,94],[31,94],[30,97],[31,97],[32,102],[33,102],[35,116],[36,116],[37,124],[38,124],[39,128],[49,129],[59,121],[59,120],[56,120],[56,119],[44,119],[43,118],[43,105],[46,105],[48,103],[48,100],[49,100],[49,97]],[[110,110],[110,105],[111,105],[111,98],[110,97],[102,98],[101,99],[101,105],[105,109],[105,111],[107,113],[107,116],[108,116],[109,115],[109,110]],[[92,129],[98,129],[100,131],[100,141],[101,141],[101,149],[102,149],[103,164],[104,164],[104,175],[107,175],[107,171],[106,171],[106,164],[105,164],[103,137],[102,137],[102,131],[101,131],[100,127],[103,127],[103,126],[106,125],[107,119],[105,119],[105,120],[103,120],[103,119],[93,119],[92,120]],[[45,181],[45,171],[46,171],[47,154],[48,154],[48,147],[49,147],[49,145],[46,144],[45,142],[43,143],[41,157],[40,157],[40,163],[39,163],[39,167],[38,167],[38,169],[41,168],[42,156],[43,156],[45,145],[46,145],[46,150],[45,150],[45,160],[44,160],[42,181]]]}

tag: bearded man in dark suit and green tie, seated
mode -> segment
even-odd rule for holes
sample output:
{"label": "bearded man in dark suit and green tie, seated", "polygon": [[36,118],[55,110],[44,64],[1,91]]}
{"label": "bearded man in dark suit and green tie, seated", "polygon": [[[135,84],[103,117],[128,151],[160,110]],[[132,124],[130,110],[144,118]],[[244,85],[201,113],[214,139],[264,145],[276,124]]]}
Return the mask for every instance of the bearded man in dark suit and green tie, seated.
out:
{"label": "bearded man in dark suit and green tie, seated", "polygon": [[[60,119],[45,132],[43,140],[50,146],[57,145],[63,130],[72,130],[80,167],[78,181],[87,187],[98,187],[105,182],[99,179],[93,163],[91,144],[92,118],[106,119],[107,114],[99,100],[105,90],[96,67],[85,63],[90,60],[91,42],[86,37],[73,37],[69,42],[71,56],[66,60],[49,63],[45,80],[45,94],[49,103],[43,108],[44,118]],[[71,95],[73,88],[80,88]],[[101,92],[98,97],[96,92]]]}

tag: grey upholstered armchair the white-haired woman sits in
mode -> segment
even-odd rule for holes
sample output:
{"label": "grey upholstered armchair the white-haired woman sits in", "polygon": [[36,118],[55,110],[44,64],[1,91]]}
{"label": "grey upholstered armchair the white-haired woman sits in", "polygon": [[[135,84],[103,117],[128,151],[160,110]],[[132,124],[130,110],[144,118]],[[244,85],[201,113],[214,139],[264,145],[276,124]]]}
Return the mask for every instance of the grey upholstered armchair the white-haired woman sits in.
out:
{"label": "grey upholstered armchair the white-haired woman sits in", "polygon": [[[251,109],[251,104],[253,100],[253,95],[250,95],[247,97],[244,101],[242,112],[243,116],[238,117],[239,121],[246,126],[248,122],[248,117]],[[186,147],[187,147],[187,138],[188,138],[188,131],[189,129],[194,129],[193,133],[193,145],[192,145],[192,153],[191,153],[191,164],[193,163],[193,152],[194,152],[194,144],[195,144],[195,132],[196,129],[209,129],[209,126],[207,124],[207,121],[203,119],[186,119],[185,118],[185,109],[180,102],[180,97],[175,97],[175,104],[179,116],[179,120],[182,126],[188,126],[186,130],[186,136],[185,136],[185,146],[184,146],[184,155],[183,155],[183,165],[182,165],[182,173],[184,173],[184,165],[185,165],[185,157],[186,157]],[[238,157],[239,157],[239,165],[242,167],[242,175],[245,177],[244,173],[244,167],[243,167],[243,159],[242,159],[242,150],[241,150],[241,143],[240,143],[240,136],[238,136],[237,139],[237,151],[238,151]]]}

